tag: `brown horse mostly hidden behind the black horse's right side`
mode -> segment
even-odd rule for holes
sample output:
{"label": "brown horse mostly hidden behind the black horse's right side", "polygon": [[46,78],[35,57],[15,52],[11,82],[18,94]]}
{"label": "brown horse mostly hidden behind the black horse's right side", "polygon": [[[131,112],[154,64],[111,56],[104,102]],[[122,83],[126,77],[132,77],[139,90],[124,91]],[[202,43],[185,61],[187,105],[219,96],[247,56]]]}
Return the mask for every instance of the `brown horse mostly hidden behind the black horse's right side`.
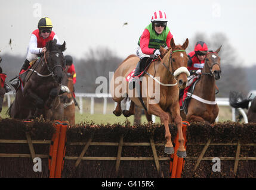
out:
{"label": "brown horse mostly hidden behind the black horse's right side", "polygon": [[61,95],[61,102],[64,106],[64,120],[69,121],[71,126],[75,125],[75,102],[73,100],[73,91],[74,91],[74,84],[73,84],[73,75],[67,73],[66,80],[63,81],[63,84],[69,88],[69,93],[64,93]]}

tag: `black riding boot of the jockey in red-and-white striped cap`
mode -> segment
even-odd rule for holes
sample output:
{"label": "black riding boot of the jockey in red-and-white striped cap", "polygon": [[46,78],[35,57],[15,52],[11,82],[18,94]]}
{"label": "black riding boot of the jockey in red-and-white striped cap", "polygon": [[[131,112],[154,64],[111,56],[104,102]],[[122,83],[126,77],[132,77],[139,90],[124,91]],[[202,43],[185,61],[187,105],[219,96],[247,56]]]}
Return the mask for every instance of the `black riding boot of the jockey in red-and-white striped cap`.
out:
{"label": "black riding boot of the jockey in red-and-white striped cap", "polygon": [[135,87],[135,84],[138,83],[138,80],[140,79],[138,75],[140,75],[141,71],[143,71],[146,66],[147,66],[147,59],[149,58],[141,58],[140,61],[138,62],[135,71],[134,71],[134,76],[132,79],[129,81],[128,86],[129,90],[132,90]]}

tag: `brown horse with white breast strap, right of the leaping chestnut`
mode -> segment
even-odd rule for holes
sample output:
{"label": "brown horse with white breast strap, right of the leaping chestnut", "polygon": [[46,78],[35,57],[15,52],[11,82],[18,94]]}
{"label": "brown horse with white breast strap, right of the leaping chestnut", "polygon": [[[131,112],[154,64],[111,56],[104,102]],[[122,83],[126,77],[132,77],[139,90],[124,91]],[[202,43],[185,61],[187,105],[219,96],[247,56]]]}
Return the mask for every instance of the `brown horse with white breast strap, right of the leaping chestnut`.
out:
{"label": "brown horse with white breast strap, right of the leaping chestnut", "polygon": [[192,99],[187,107],[187,115],[181,112],[181,116],[186,121],[214,123],[218,116],[218,105],[215,102],[215,80],[220,79],[220,57],[218,52],[208,52],[205,57],[205,65],[202,69],[201,78],[196,83]]}

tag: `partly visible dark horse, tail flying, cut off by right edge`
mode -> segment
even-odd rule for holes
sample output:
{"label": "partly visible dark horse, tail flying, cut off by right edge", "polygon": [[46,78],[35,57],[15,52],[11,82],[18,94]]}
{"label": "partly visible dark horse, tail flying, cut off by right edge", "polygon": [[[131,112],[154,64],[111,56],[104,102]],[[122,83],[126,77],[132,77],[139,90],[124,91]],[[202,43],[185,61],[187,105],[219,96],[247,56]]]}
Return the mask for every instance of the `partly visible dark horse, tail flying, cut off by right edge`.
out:
{"label": "partly visible dark horse, tail flying, cut off by right edge", "polygon": [[[251,106],[249,107],[249,102],[251,102]],[[229,94],[229,103],[230,106],[234,108],[242,108],[248,109],[247,117],[248,122],[256,122],[256,96],[254,99],[245,99],[242,96],[242,93],[238,93],[236,91],[230,91]]]}

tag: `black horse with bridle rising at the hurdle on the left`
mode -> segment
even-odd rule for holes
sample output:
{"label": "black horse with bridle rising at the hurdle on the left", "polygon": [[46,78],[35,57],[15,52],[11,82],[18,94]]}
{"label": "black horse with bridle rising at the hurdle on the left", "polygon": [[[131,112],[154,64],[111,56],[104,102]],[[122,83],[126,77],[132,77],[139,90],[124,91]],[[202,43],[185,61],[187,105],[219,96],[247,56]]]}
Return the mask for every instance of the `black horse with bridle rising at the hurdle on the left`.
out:
{"label": "black horse with bridle rising at the hurdle on the left", "polygon": [[63,51],[66,43],[57,45],[56,42],[49,41],[46,45],[47,52],[29,69],[23,81],[23,90],[17,90],[15,100],[9,107],[11,118],[32,119],[43,115],[48,119],[48,112],[58,97],[63,78]]}

